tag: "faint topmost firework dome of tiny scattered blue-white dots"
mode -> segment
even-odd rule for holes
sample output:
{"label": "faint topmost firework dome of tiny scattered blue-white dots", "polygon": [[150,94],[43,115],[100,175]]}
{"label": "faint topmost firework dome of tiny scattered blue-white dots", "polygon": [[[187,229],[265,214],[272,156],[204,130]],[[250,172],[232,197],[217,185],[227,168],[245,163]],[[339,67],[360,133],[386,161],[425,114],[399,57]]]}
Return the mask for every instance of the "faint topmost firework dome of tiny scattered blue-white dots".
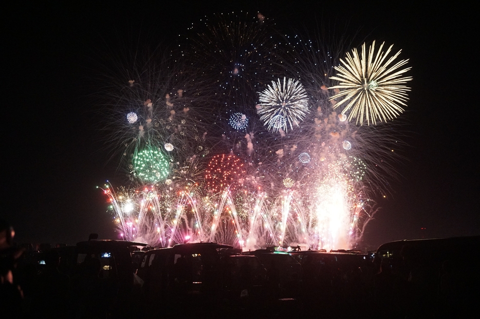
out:
{"label": "faint topmost firework dome of tiny scattered blue-white dots", "polygon": [[207,17],[190,28],[190,46],[182,54],[190,61],[189,71],[221,106],[233,107],[243,96],[255,96],[262,84],[280,74],[269,25],[265,19],[231,13]]}

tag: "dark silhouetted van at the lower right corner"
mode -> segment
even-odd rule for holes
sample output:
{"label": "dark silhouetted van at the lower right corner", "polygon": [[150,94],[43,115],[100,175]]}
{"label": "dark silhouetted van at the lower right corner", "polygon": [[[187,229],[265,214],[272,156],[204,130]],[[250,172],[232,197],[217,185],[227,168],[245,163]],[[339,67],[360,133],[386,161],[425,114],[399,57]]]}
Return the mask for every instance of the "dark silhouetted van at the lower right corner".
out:
{"label": "dark silhouetted van at the lower right corner", "polygon": [[480,294],[479,251],[480,236],[384,243],[374,259],[379,316],[473,313]]}

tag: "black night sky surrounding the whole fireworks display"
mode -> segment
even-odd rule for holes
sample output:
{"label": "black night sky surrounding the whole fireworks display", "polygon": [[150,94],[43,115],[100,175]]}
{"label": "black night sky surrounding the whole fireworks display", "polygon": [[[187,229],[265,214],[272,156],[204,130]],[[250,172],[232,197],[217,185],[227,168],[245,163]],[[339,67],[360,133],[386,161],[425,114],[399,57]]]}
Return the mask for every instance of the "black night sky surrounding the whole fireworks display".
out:
{"label": "black night sky surrounding the whole fireworks display", "polygon": [[[174,42],[204,15],[260,11],[278,25],[327,25],[355,39],[402,49],[413,81],[402,116],[406,160],[392,194],[364,234],[365,247],[397,239],[480,235],[478,23],[458,3],[317,1],[19,2],[2,10],[1,215],[17,241],[75,243],[97,232],[115,238],[104,195],[116,164],[96,121],[98,54],[125,34]],[[346,27],[345,27],[346,26]],[[350,34],[347,34],[350,36]],[[355,42],[354,42],[355,43]],[[475,43],[477,43],[475,45]],[[421,228],[426,228],[421,231]]]}

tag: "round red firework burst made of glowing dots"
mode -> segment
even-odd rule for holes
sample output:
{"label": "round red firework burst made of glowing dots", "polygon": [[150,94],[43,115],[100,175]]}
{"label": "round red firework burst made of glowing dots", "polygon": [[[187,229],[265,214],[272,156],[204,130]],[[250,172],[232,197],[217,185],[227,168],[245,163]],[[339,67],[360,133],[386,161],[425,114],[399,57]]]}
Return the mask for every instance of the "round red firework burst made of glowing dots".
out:
{"label": "round red firework burst made of glowing dots", "polygon": [[234,191],[243,184],[244,163],[233,154],[215,155],[205,170],[207,187],[213,193],[220,192],[230,186]]}

